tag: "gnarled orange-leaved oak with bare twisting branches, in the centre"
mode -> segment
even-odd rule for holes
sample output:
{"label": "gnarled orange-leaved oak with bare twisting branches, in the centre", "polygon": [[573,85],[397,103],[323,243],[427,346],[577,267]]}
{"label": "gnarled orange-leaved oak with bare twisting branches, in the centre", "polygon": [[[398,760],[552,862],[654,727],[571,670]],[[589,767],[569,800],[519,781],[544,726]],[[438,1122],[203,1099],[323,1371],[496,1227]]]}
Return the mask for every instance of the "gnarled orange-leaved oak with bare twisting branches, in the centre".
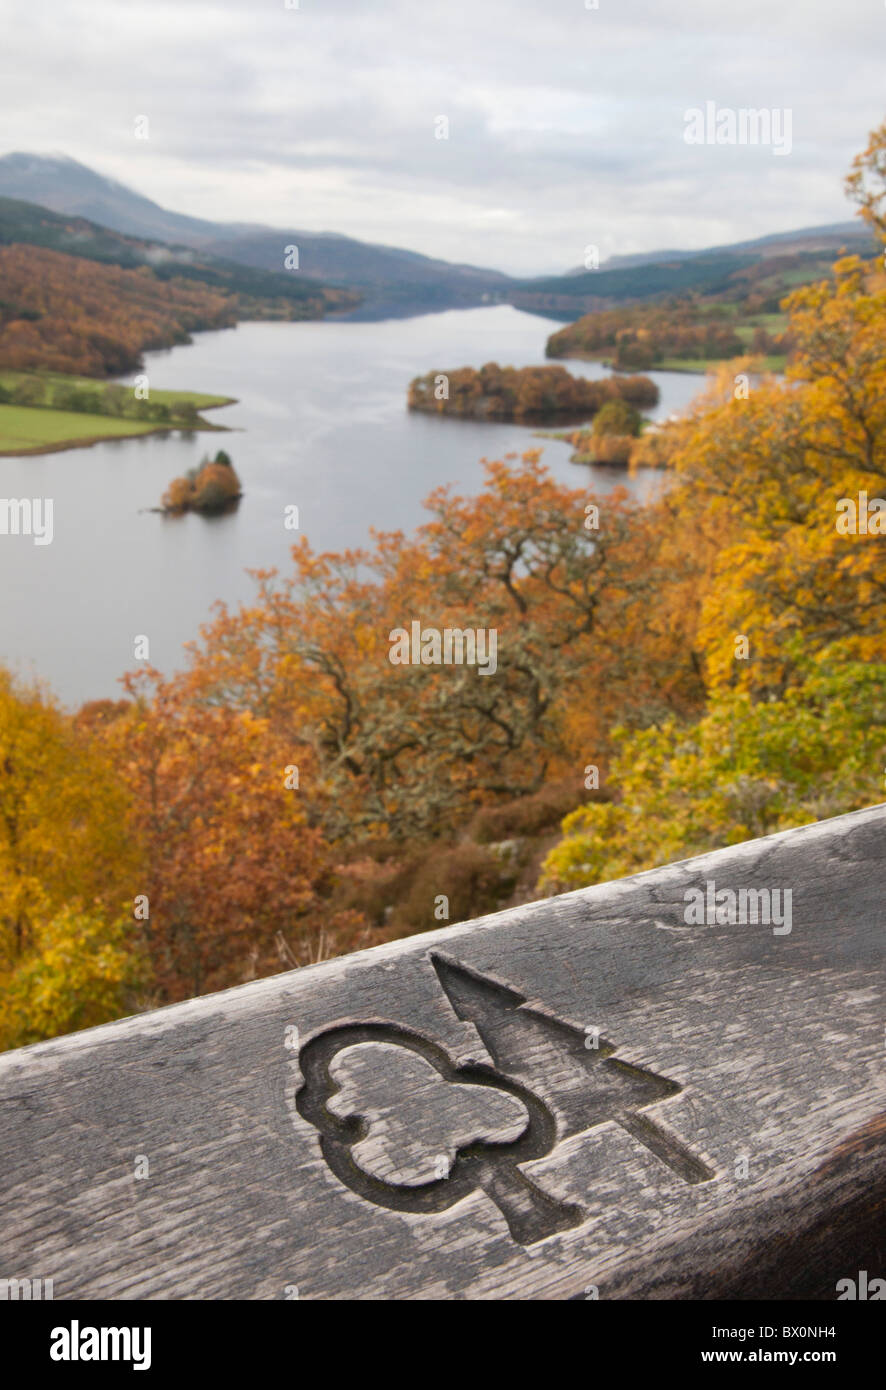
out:
{"label": "gnarled orange-leaved oak with bare twisting branches, in the centre", "polygon": [[[442,834],[579,766],[616,710],[683,708],[698,688],[680,623],[648,623],[661,537],[626,493],[588,502],[529,453],[487,464],[477,498],[427,505],[413,539],[381,534],[374,552],[302,541],[293,574],[260,573],[256,602],[223,610],[193,657],[200,699],[310,741],[312,815],[332,838]],[[392,664],[413,621],[495,632],[495,674]]]}

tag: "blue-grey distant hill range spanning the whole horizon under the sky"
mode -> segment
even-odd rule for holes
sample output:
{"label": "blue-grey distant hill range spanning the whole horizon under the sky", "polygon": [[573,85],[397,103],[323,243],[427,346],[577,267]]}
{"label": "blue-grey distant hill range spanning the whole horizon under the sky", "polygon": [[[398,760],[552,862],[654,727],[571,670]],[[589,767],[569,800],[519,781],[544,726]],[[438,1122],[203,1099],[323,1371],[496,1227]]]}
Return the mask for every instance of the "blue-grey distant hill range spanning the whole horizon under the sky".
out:
{"label": "blue-grey distant hill range spanning the whole horizon under the sky", "polygon": [[[213,222],[172,213],[124,183],[67,157],[6,154],[0,157],[0,196],[49,208],[63,218],[85,220],[93,259],[104,254],[99,228],[129,238],[134,256],[157,267],[192,264],[195,278],[227,274],[234,267],[253,275],[287,279],[289,296],[309,295],[317,282],[356,291],[363,303],[352,317],[380,318],[431,309],[508,302],[520,309],[574,320],[598,309],[658,300],[669,295],[729,293],[730,285],[762,261],[772,263],[772,293],[804,279],[821,278],[841,247],[873,253],[861,222],[835,222],[776,232],[702,252],[662,250],[613,256],[599,270],[584,267],[562,275],[515,279],[501,271],[452,264],[396,246],[362,242],[335,232],[271,228],[252,222]],[[32,236],[36,235],[32,228]],[[53,235],[56,235],[53,232]],[[78,236],[79,231],[74,234]],[[0,228],[0,236],[3,229]],[[35,245],[57,246],[56,242]],[[298,272],[284,272],[287,246],[298,246]],[[147,250],[145,247],[149,247]],[[68,252],[74,246],[68,245]],[[189,260],[189,253],[193,259]],[[114,264],[120,247],[110,250]],[[224,267],[224,271],[223,271]],[[778,267],[778,272],[775,268]],[[171,271],[161,270],[161,274]],[[178,271],[177,271],[178,272]],[[298,289],[295,288],[298,286]],[[253,284],[252,293],[268,293]],[[282,291],[281,291],[282,293]]]}

